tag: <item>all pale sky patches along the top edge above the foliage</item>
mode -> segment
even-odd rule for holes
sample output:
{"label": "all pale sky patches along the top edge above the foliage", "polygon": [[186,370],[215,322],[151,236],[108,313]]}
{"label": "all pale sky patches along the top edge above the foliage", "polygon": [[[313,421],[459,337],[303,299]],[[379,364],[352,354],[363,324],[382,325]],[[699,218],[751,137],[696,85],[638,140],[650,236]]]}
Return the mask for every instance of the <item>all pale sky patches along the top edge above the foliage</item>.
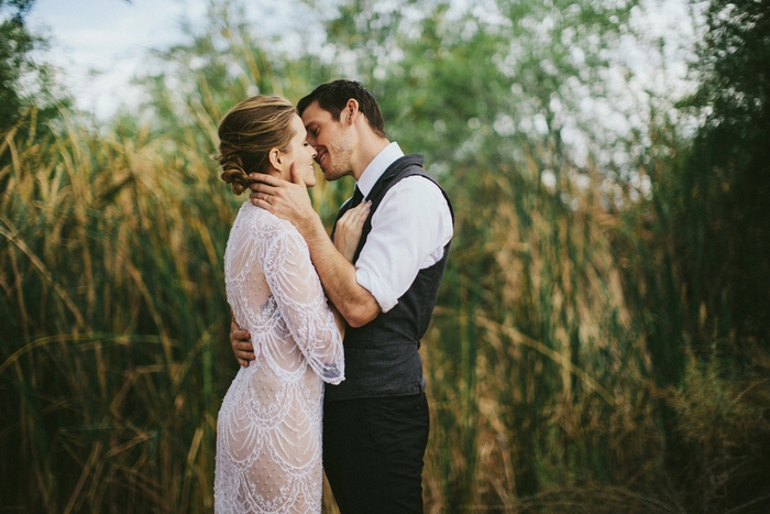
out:
{"label": "all pale sky patches along the top edge above the foliage", "polygon": [[[42,59],[63,70],[62,79],[76,105],[107,119],[121,105],[138,103],[140,91],[131,85],[131,79],[146,65],[148,51],[183,42],[183,19],[194,26],[202,23],[210,2],[36,0],[28,23],[32,31],[50,36],[51,48]],[[298,30],[307,33],[312,25],[299,13],[288,12],[289,2],[249,0],[243,3],[248,18],[263,32]],[[645,20],[650,31],[663,37],[688,32],[686,26],[675,22],[686,18],[683,15],[686,1],[646,0],[645,3],[652,8]],[[671,59],[674,64],[678,61]]]}

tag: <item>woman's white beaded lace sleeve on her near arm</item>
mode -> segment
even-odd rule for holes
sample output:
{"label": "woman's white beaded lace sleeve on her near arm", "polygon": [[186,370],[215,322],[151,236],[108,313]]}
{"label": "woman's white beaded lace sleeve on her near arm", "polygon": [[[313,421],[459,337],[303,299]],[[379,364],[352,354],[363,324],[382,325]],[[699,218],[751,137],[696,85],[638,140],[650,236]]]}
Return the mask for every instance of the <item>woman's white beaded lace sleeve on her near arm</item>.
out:
{"label": "woman's white beaded lace sleeve on her near arm", "polygon": [[265,280],[308,364],[324,382],[344,380],[342,338],[299,232],[280,230],[264,247]]}

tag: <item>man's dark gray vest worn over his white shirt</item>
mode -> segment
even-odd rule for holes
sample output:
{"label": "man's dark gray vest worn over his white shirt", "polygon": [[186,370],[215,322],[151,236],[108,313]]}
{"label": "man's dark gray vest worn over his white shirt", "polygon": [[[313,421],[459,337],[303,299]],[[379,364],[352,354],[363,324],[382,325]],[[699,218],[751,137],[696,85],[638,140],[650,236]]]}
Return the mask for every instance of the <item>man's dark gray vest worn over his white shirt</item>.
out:
{"label": "man's dark gray vest worn over his white shirt", "polygon": [[[436,184],[422,169],[422,155],[405,155],[394,162],[375,183],[369,199],[372,208],[363,227],[353,262],[359,259],[366,237],[372,230],[372,216],[380,207],[385,193],[398,181],[419,175]],[[438,186],[438,184],[437,184]],[[440,186],[439,186],[440,188]],[[441,189],[450,212],[452,205]],[[350,200],[342,205],[338,219],[350,208]],[[454,221],[454,214],[452,214]],[[416,219],[414,222],[419,223]],[[399,396],[425,391],[422,360],[417,350],[420,338],[430,322],[436,306],[441,276],[447,265],[449,243],[443,256],[430,267],[420,270],[409,289],[398,298],[398,304],[387,313],[380,313],[363,327],[348,327],[344,338],[345,380],[340,385],[326,386],[326,401],[352,400],[375,396]]]}

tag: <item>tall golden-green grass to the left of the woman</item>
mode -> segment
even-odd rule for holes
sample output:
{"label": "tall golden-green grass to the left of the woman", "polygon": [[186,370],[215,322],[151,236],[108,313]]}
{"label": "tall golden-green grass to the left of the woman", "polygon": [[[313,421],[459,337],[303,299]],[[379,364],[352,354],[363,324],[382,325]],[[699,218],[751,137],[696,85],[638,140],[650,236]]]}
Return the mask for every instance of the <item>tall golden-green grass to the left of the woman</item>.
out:
{"label": "tall golden-green grass to the left of the woman", "polygon": [[2,149],[3,504],[207,512],[234,203],[197,151],[59,129]]}

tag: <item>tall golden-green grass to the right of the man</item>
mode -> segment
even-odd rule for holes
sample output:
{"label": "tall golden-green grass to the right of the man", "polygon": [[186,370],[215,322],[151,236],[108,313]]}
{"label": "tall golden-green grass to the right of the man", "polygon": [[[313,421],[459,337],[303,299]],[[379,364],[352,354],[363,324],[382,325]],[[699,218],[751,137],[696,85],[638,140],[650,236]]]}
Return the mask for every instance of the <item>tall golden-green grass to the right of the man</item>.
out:
{"label": "tall golden-green grass to the right of the man", "polygon": [[652,493],[663,440],[609,237],[619,219],[566,163],[544,187],[553,156],[528,149],[527,167],[450,179],[454,253],[426,343],[431,512],[519,512],[522,497],[607,483]]}

